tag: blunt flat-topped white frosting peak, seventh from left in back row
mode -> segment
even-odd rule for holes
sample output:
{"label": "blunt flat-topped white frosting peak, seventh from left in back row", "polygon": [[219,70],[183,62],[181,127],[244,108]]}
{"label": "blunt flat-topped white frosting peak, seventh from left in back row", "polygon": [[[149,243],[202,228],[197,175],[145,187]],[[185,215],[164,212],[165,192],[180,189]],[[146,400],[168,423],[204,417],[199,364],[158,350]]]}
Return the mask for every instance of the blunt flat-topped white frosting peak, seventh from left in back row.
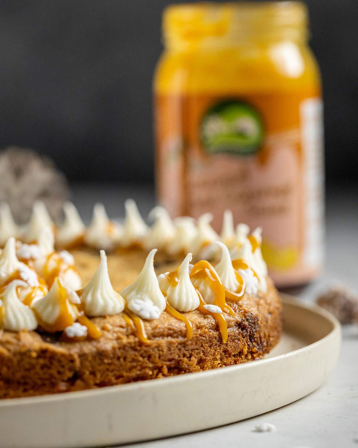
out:
{"label": "blunt flat-topped white frosting peak, seventh from left in back row", "polygon": [[172,241],[167,243],[166,251],[170,255],[187,254],[192,248],[197,230],[195,221],[189,216],[181,216],[174,220],[175,234]]}

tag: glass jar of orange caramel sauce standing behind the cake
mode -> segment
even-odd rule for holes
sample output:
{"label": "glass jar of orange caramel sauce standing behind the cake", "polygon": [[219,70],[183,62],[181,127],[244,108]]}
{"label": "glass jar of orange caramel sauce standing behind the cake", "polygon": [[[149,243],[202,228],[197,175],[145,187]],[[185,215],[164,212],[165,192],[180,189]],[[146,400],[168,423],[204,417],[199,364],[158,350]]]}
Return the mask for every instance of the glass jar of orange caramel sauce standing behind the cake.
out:
{"label": "glass jar of orange caramel sauce standing behind the cake", "polygon": [[156,183],[172,216],[263,228],[279,286],[323,257],[320,74],[300,2],[184,4],[163,15],[154,77]]}

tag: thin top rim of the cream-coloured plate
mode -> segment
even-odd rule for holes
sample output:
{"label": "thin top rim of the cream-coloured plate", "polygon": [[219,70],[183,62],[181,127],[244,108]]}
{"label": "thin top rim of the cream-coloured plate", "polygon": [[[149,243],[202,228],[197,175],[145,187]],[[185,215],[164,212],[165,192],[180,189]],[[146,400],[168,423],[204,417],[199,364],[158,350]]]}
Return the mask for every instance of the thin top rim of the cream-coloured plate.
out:
{"label": "thin top rim of the cream-coloured plate", "polygon": [[[303,299],[298,299],[290,294],[286,293],[280,293],[281,301],[283,304],[288,305],[294,305],[301,308],[304,308],[306,310],[309,310],[315,314],[319,314],[320,316],[324,317],[326,320],[331,323],[332,328],[331,330],[322,338],[319,340],[316,340],[315,342],[312,342],[311,344],[304,345],[303,347],[299,349],[292,350],[287,353],[282,353],[277,356],[273,356],[272,358],[264,358],[264,359],[258,359],[255,362],[244,362],[241,364],[237,364],[234,366],[226,366],[225,368],[218,368],[218,369],[210,369],[200,372],[192,372],[192,373],[186,373],[184,375],[173,375],[169,377],[161,378],[160,381],[157,382],[157,384],[162,384],[165,382],[165,384],[168,384],[170,382],[172,383],[178,383],[181,381],[188,381],[189,378],[191,378],[193,375],[200,375],[200,377],[208,377],[211,375],[217,375],[218,371],[220,370],[226,370],[230,369],[230,371],[233,371],[234,369],[247,369],[247,368],[258,368],[259,366],[262,366],[262,364],[267,364],[270,362],[276,362],[277,360],[281,358],[291,358],[294,356],[297,356],[300,352],[307,350],[308,348],[315,348],[317,345],[324,344],[324,342],[328,338],[332,338],[337,336],[339,339],[339,344],[341,344],[341,324],[338,321],[336,317],[333,316],[330,312],[327,310],[324,310],[320,306],[304,301]],[[336,335],[337,334],[337,335]],[[39,396],[29,396],[29,397],[19,397],[19,398],[5,398],[0,400],[0,409],[6,408],[9,406],[21,406],[21,405],[39,405],[41,403],[47,403],[47,402],[60,402],[64,400],[77,400],[78,398],[86,398],[91,396],[96,396],[97,394],[104,395],[104,394],[110,394],[111,392],[116,392],[120,389],[125,389],[126,391],[130,391],[131,389],[136,388],[147,388],[150,386],[150,384],[153,384],[153,379],[146,379],[142,381],[137,381],[133,383],[125,383],[125,384],[116,384],[113,386],[105,386],[102,388],[95,388],[95,389],[85,389],[80,391],[72,391],[72,392],[59,392],[55,394],[47,394],[47,395],[39,395]],[[160,386],[159,386],[160,387]]]}

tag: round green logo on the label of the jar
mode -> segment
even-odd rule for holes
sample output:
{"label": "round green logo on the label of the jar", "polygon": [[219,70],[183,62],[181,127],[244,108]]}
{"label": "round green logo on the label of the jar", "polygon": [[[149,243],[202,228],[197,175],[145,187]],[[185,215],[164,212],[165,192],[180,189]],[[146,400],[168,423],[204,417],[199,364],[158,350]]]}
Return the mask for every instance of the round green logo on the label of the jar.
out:
{"label": "round green logo on the label of the jar", "polygon": [[226,100],[212,106],[201,122],[201,141],[210,154],[251,155],[260,149],[264,125],[250,104]]}

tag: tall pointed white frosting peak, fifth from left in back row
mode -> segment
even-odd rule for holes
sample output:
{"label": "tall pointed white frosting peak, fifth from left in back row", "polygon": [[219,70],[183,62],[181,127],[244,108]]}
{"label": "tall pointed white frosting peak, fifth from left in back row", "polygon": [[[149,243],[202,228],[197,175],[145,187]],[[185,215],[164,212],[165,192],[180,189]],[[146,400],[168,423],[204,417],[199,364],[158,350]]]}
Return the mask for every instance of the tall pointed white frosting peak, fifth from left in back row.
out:
{"label": "tall pointed white frosting peak, fifth from left in back row", "polygon": [[139,213],[136,202],[133,199],[127,199],[124,202],[126,211],[124,218],[124,231],[121,239],[121,244],[124,247],[129,247],[134,244],[141,244],[148,232],[147,224],[143,221]]}

